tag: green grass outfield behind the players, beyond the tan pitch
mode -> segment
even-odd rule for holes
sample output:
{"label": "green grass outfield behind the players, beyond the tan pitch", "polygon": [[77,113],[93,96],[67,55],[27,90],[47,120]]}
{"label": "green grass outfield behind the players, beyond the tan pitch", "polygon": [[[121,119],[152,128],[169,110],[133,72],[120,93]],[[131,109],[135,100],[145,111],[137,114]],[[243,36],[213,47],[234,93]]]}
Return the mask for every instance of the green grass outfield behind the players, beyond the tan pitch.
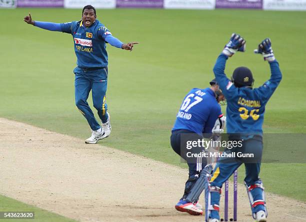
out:
{"label": "green grass outfield behind the players, beyond the tan pitch", "polygon": [[[89,127],[74,105],[72,38],[27,25],[28,11],[53,22],[81,15],[80,9],[0,9],[0,116],[85,139]],[[182,166],[169,147],[176,112],[188,90],[213,78],[232,32],[246,39],[247,51],[229,59],[227,74],[244,65],[255,86],[268,79],[268,64],[252,53],[265,37],[280,63],[283,80],[266,106],[264,131],[305,132],[305,12],[115,9],[97,10],[97,18],[120,40],[140,42],[132,52],[107,46],[113,130],[100,144]],[[305,172],[305,164],[262,164],[261,178],[268,192],[306,201]]]}

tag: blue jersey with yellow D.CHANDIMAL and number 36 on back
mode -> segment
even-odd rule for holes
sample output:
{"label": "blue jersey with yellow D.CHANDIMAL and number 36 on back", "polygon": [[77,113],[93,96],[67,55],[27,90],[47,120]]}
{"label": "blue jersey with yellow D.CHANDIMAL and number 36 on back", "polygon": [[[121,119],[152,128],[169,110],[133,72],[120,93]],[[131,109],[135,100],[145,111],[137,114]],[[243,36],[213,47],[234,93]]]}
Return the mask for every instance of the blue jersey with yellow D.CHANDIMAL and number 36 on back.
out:
{"label": "blue jersey with yellow D.CHANDIMAL and number 36 on back", "polygon": [[261,135],[265,105],[281,80],[278,62],[269,62],[271,76],[262,86],[237,88],[224,73],[227,58],[220,54],[213,67],[216,81],[227,100],[227,133]]}

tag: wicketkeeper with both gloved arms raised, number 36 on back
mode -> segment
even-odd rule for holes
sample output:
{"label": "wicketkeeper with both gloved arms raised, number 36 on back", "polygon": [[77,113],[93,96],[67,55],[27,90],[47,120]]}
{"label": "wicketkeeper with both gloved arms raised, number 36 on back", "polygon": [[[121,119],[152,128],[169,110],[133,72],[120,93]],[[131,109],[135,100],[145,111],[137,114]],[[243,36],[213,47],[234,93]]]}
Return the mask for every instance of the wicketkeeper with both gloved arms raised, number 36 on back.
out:
{"label": "wicketkeeper with both gloved arms raised, number 36 on back", "polygon": [[219,201],[222,184],[243,163],[245,166],[244,184],[249,198],[252,217],[256,222],[266,222],[267,211],[264,188],[259,179],[262,155],[262,123],[265,105],[281,80],[281,72],[276,61],[270,39],[264,39],[255,53],[263,55],[268,61],[271,76],[263,85],[252,88],[253,76],[247,67],[238,67],[233,71],[231,80],[224,74],[226,60],[235,52],[245,51],[245,40],[238,34],[232,34],[222,53],[218,56],[213,72],[226,100],[227,133],[229,140],[242,142],[241,147],[227,149],[227,154],[237,152],[254,154],[254,158],[221,157],[213,175],[205,184],[205,221],[219,222]]}

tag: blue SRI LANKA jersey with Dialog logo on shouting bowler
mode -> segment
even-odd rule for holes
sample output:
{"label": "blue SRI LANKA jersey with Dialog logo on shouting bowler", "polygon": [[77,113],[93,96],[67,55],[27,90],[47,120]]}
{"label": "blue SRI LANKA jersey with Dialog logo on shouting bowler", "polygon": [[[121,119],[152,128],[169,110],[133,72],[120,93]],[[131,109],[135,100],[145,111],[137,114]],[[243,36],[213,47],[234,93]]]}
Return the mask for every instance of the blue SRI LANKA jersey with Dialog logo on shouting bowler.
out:
{"label": "blue SRI LANKA jersey with Dialog logo on shouting bowler", "polygon": [[98,20],[89,27],[80,21],[61,23],[62,32],[72,35],[79,68],[104,68],[108,64],[105,37],[110,31]]}

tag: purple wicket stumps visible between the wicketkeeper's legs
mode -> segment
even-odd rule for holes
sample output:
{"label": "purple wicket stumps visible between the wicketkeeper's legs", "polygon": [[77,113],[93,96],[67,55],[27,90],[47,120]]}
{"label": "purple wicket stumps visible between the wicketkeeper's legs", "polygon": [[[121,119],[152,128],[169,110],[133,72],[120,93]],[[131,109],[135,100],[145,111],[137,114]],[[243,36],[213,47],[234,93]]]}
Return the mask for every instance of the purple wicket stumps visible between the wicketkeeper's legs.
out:
{"label": "purple wicket stumps visible between the wicketkeeper's legs", "polygon": [[[228,222],[228,180],[224,184],[224,222]],[[229,221],[237,221],[237,193],[238,193],[238,172],[237,170],[233,173],[233,219]]]}

